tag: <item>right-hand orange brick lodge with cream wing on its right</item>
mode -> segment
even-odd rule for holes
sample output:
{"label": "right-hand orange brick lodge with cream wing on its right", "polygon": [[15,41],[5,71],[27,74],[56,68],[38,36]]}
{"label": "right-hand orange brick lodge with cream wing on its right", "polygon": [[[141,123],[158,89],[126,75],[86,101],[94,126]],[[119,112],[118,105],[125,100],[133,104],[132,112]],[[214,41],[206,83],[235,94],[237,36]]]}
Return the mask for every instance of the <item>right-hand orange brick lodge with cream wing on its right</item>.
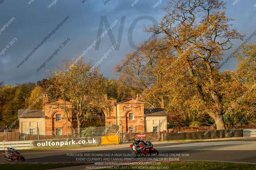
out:
{"label": "right-hand orange brick lodge with cream wing on its right", "polygon": [[123,133],[167,130],[168,114],[164,109],[146,109],[140,97],[119,103],[116,103],[116,99],[108,100],[111,101],[112,110],[105,113],[106,126],[117,124],[122,127],[119,132]]}

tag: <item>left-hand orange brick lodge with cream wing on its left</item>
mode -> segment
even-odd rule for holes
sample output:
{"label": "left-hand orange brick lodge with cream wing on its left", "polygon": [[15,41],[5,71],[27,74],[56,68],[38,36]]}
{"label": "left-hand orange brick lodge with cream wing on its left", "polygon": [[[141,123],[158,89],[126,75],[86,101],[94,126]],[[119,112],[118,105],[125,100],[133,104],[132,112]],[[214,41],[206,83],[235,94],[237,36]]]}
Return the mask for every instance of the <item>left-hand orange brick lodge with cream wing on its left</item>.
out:
{"label": "left-hand orange brick lodge with cream wing on its left", "polygon": [[[68,128],[71,123],[63,109],[65,104],[67,108],[72,107],[68,101],[48,101],[48,97],[44,96],[43,109],[31,109],[25,114],[24,109],[19,109],[20,133],[37,135],[39,131],[40,135],[71,135],[72,129]],[[68,113],[68,117],[72,121],[71,112]]]}

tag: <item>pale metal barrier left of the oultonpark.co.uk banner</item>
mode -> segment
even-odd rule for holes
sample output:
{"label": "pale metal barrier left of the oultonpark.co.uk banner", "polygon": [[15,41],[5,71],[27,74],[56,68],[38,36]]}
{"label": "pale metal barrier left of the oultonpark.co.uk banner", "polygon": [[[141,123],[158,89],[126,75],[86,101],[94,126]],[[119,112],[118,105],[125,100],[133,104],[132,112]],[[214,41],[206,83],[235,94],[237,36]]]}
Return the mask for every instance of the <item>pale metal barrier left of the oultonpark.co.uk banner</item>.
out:
{"label": "pale metal barrier left of the oultonpark.co.uk banner", "polygon": [[15,149],[32,149],[33,141],[6,141],[0,142],[0,150],[5,150],[8,146],[12,146]]}

